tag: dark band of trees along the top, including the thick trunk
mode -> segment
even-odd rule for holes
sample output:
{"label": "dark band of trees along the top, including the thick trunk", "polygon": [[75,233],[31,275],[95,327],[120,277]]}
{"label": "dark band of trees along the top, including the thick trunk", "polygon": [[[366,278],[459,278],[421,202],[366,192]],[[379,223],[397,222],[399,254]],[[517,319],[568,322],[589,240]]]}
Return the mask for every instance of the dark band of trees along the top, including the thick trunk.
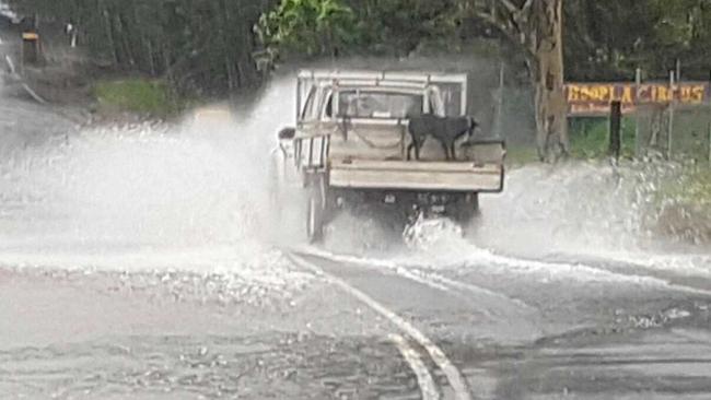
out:
{"label": "dark band of trees along the top, including the thick trunk", "polygon": [[637,68],[658,79],[677,60],[684,78],[710,78],[708,0],[4,1],[40,30],[71,23],[103,67],[198,95],[255,86],[279,62],[493,43],[493,57],[525,66],[545,158],[570,150],[566,80],[630,80]]}

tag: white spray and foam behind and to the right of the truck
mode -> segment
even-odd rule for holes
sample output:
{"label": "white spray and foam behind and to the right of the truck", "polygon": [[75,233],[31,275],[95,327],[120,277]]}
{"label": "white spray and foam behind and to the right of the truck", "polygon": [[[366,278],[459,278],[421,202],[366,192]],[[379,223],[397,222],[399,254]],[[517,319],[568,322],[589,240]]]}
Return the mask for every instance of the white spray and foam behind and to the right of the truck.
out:
{"label": "white spray and foam behind and to the right of the truck", "polygon": [[[468,270],[486,266],[491,271],[533,273],[547,280],[665,284],[666,278],[652,278],[660,271],[664,272],[660,277],[709,278],[708,254],[656,247],[660,242],[646,228],[654,216],[651,205],[658,180],[669,173],[673,166],[532,165],[510,172],[503,193],[481,196],[481,216],[464,234],[446,217],[420,217],[406,230],[405,248],[384,254],[327,247],[330,254],[325,255],[348,254],[350,261],[385,268]],[[352,236],[356,240],[369,237]],[[599,268],[606,263],[617,272]],[[629,274],[618,273],[626,266]]]}

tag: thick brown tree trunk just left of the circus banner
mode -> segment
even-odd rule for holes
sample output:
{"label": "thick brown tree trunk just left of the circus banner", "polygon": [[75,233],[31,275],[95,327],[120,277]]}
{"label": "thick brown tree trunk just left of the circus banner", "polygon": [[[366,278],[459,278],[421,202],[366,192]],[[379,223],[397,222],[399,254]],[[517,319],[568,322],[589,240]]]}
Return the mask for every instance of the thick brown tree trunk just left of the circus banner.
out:
{"label": "thick brown tree trunk just left of the circus banner", "polygon": [[568,105],[564,95],[563,0],[534,2],[534,87],[538,155],[555,162],[568,155]]}

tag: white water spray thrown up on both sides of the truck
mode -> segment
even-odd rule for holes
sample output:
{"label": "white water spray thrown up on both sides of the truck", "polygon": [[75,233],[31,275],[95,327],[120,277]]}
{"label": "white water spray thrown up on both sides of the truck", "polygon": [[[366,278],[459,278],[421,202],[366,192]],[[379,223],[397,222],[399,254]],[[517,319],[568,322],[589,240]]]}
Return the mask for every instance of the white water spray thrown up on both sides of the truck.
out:
{"label": "white water spray thrown up on both sides of the truck", "polygon": [[[303,243],[302,199],[271,198],[275,132],[293,123],[293,85],[292,77],[275,80],[235,113],[213,107],[177,127],[3,138],[0,263],[272,279],[275,271],[259,271],[278,258],[276,248]],[[649,238],[644,219],[657,175],[607,164],[524,167],[509,173],[502,195],[482,196],[482,214],[465,234],[446,219],[421,220],[404,245],[401,232],[376,214],[345,213],[328,227],[326,248],[438,263],[490,250],[637,251]]]}

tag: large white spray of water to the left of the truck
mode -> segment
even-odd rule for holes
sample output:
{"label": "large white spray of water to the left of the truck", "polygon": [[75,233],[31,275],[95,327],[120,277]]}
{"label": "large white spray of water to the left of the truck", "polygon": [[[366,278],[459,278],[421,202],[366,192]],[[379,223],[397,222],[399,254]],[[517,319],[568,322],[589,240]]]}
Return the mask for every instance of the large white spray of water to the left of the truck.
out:
{"label": "large white spray of water to the left of the truck", "polygon": [[253,105],[198,110],[177,126],[4,137],[0,264],[293,278],[272,245],[289,226],[269,192],[292,86],[275,80]]}

